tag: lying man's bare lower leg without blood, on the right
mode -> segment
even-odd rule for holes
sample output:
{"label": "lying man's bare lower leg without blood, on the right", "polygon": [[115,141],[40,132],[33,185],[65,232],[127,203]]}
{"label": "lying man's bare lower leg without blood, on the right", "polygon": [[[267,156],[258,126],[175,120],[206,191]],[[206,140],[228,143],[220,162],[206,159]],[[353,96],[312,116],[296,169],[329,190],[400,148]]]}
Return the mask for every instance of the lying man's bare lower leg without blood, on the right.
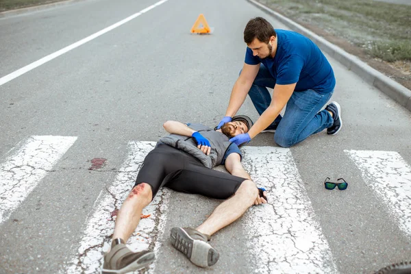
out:
{"label": "lying man's bare lower leg without blood, on the right", "polygon": [[240,218],[245,210],[253,205],[257,196],[258,189],[256,184],[251,180],[245,180],[242,182],[234,196],[216,207],[210,217],[197,227],[197,231],[211,236],[223,227]]}

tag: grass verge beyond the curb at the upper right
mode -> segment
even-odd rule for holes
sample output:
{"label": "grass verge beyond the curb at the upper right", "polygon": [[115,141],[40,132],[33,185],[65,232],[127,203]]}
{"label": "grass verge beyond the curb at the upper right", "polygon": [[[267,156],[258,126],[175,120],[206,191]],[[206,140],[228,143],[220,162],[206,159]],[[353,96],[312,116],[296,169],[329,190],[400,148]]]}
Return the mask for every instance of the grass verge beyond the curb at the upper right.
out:
{"label": "grass verge beyond the curb at the upper right", "polygon": [[372,0],[259,0],[291,19],[343,36],[387,62],[411,61],[411,5]]}

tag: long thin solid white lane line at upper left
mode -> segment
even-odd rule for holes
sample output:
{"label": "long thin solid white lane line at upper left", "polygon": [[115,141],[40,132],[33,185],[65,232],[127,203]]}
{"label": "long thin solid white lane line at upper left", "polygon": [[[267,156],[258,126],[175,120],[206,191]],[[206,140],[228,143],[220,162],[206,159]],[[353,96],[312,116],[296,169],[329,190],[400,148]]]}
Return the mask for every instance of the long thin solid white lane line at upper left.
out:
{"label": "long thin solid white lane line at upper left", "polygon": [[58,56],[71,51],[72,49],[75,49],[76,47],[79,47],[83,44],[85,44],[86,42],[89,42],[90,40],[93,40],[103,34],[105,34],[106,32],[110,32],[110,30],[115,29],[116,27],[120,27],[121,25],[127,23],[128,21],[133,20],[134,18],[136,18],[137,16],[140,16],[141,14],[144,14],[145,12],[148,12],[149,10],[157,7],[158,5],[161,5],[162,3],[166,2],[168,0],[162,0],[162,1],[158,1],[157,3],[150,5],[149,7],[145,8],[144,10],[140,10],[140,12],[137,12],[135,14],[133,14],[132,16],[129,16],[113,25],[110,25],[110,27],[106,27],[105,29],[101,29],[101,31],[96,32],[95,34],[92,34],[82,40],[79,40],[77,42],[75,42],[74,44],[71,44],[67,47],[64,47],[63,49],[60,49],[59,51],[55,51],[54,53],[51,53],[43,58],[41,58],[40,60],[37,60],[36,62],[32,62],[32,64],[28,64],[27,66],[24,66],[21,69],[18,69],[17,71],[14,71],[8,75],[5,75],[4,77],[0,78],[0,86],[10,82],[12,79],[23,75],[24,73],[27,73],[29,71],[31,71],[32,69],[36,69],[36,67],[41,66],[42,64],[45,64],[51,60],[53,60],[54,58],[57,58]]}

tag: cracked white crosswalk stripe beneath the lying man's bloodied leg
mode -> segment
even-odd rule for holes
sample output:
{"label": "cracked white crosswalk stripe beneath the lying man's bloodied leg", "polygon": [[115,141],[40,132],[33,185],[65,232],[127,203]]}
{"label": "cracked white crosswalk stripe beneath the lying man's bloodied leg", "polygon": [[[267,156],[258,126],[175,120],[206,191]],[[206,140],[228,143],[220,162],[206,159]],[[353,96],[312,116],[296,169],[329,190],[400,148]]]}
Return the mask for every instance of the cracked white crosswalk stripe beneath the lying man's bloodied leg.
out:
{"label": "cracked white crosswalk stripe beneath the lying man's bloodied leg", "polygon": [[[77,256],[66,264],[60,273],[99,273],[101,271],[103,252],[109,249],[110,237],[114,232],[115,217],[112,217],[112,212],[121,208],[121,204],[134,186],[145,156],[154,148],[154,145],[155,142],[129,142],[127,160],[108,191],[101,192],[103,197],[97,199],[98,206],[94,207],[95,211],[88,218]],[[130,249],[142,251],[153,247],[157,253],[160,244],[155,239],[164,232],[166,221],[164,211],[168,206],[169,197],[169,190],[160,189],[149,206],[143,210],[142,214],[151,214],[151,216],[141,219],[136,231],[127,241]]]}

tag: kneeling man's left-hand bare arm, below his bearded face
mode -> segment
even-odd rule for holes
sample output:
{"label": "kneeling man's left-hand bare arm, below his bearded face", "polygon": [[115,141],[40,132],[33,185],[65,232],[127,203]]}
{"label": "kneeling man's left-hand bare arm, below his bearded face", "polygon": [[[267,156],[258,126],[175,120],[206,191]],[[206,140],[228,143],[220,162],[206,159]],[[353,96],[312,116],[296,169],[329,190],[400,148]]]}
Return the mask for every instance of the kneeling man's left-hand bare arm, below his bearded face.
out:
{"label": "kneeling man's left-hand bare arm, below his bearded face", "polygon": [[232,117],[236,115],[242,103],[244,103],[245,97],[247,97],[247,94],[254,82],[254,79],[256,79],[259,70],[260,64],[251,65],[244,63],[241,74],[234,84],[231,96],[229,97],[229,103],[227,110],[225,111],[225,116]]}

